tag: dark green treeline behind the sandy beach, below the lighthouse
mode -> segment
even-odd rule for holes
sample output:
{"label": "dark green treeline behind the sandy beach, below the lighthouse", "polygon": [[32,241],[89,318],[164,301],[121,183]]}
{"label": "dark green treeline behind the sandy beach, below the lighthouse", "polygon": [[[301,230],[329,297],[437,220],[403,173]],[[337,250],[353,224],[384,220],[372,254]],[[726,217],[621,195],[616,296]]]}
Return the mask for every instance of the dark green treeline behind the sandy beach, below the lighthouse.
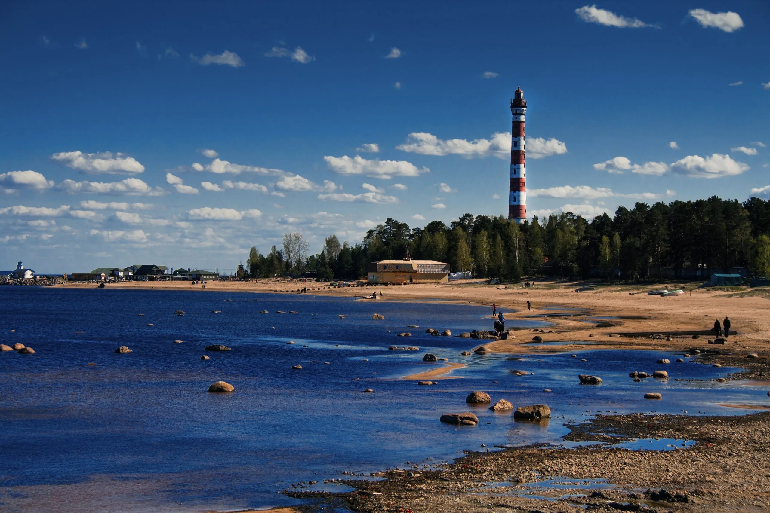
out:
{"label": "dark green treeline behind the sandy beach, below the lighthouse", "polygon": [[661,278],[665,269],[681,277],[694,269],[709,275],[734,267],[768,275],[770,200],[639,202],[590,222],[571,212],[522,225],[504,216],[465,214],[449,226],[432,221],[410,228],[388,218],[356,245],[330,235],[320,253],[308,255],[308,247],[299,233],[286,234],[283,248],[273,246],[267,255],[251,248],[246,269],[253,277],[316,271],[318,278],[353,280],[366,275],[370,261],[409,255],[506,280],[545,273],[638,281]]}

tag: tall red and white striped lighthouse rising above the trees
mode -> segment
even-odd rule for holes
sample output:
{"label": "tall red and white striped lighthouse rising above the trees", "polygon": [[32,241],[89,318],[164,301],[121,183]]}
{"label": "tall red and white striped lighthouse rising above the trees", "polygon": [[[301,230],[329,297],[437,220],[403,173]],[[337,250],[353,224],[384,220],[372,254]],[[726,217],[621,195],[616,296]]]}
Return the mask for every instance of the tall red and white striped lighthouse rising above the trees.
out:
{"label": "tall red and white striped lighthouse rising above the trees", "polygon": [[511,188],[508,193],[508,220],[519,224],[527,220],[527,168],[524,143],[524,114],[527,100],[520,88],[511,99],[514,128],[511,132]]}

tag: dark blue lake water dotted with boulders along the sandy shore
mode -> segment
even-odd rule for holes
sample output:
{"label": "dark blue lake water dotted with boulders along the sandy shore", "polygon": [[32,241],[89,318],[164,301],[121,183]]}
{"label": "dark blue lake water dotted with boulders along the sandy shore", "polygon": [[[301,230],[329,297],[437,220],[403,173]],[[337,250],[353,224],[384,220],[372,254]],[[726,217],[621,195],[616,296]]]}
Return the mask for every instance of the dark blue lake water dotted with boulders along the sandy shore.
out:
{"label": "dark blue lake water dotted with boulders along the sandy shore", "polygon": [[[403,467],[407,461],[430,464],[481,444],[561,443],[565,422],[598,412],[741,415],[746,411],[715,403],[768,401],[759,387],[675,381],[708,380],[735,369],[699,365],[698,358],[655,364],[658,358],[675,361],[673,353],[464,357],[460,352],[473,348],[474,340],[424,333],[425,328],[448,328],[455,335],[490,328],[489,319],[481,320],[490,309],[470,305],[6,287],[0,290],[0,308],[0,343],[18,341],[36,351],[0,352],[2,511],[292,505],[298,501],[276,491],[296,481]],[[174,315],[178,309],[186,315]],[[385,320],[373,321],[373,313]],[[397,338],[403,331],[413,336]],[[203,350],[212,344],[233,351]],[[120,345],[134,352],[115,354]],[[416,345],[420,351],[389,351],[390,345]],[[421,361],[426,352],[466,364],[452,374],[464,378],[433,386],[400,379],[444,365]],[[203,354],[211,359],[201,361]],[[292,370],[296,364],[303,369]],[[668,381],[628,378],[628,371],[661,367],[671,376]],[[516,376],[514,369],[534,375]],[[578,374],[600,375],[604,384],[578,385]],[[236,391],[209,394],[209,385],[219,380]],[[365,388],[374,392],[364,393]],[[545,403],[554,418],[514,422],[510,411],[465,405],[473,390],[487,391],[493,401],[506,398],[514,407]],[[664,400],[645,400],[647,391],[661,392]],[[438,421],[444,413],[469,409],[480,418],[476,427]]]}

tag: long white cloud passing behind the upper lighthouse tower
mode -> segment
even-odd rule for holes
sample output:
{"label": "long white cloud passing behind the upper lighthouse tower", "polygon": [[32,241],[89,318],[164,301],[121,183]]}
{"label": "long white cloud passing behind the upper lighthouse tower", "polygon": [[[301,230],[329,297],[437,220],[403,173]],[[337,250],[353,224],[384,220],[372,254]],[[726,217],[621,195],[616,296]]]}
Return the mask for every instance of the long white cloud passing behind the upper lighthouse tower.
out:
{"label": "long white cloud passing behind the upper lighthouse tower", "polygon": [[[461,155],[465,158],[487,157],[510,158],[511,134],[497,132],[491,139],[440,139],[429,132],[412,132],[407,142],[396,146],[402,152],[420,155]],[[527,138],[527,157],[544,158],[567,153],[567,145],[556,138]]]}

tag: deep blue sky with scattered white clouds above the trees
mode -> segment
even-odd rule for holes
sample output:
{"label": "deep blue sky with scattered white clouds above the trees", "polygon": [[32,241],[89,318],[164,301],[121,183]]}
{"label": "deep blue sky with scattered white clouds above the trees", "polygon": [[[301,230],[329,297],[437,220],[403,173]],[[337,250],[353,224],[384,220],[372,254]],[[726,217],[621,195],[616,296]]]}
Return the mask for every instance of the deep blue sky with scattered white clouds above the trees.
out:
{"label": "deep blue sky with scattered white clouds above the trees", "polygon": [[505,214],[517,85],[530,215],[770,195],[767,2],[275,3],[6,3],[0,268]]}

